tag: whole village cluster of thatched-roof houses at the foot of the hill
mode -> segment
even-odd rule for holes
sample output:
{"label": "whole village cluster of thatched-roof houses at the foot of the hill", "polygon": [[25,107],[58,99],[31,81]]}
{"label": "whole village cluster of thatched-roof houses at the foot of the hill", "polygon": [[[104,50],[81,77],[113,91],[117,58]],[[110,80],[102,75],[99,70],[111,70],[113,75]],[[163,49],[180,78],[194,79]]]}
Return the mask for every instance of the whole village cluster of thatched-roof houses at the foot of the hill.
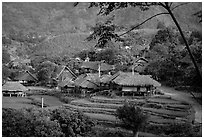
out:
{"label": "whole village cluster of thatched-roof houses at the foot of the hill", "polygon": [[[114,65],[109,65],[104,61],[89,61],[88,57],[85,61],[78,62],[80,70],[83,71],[83,74],[78,74],[78,76],[75,70],[68,66],[58,67],[57,74],[53,77],[57,83],[54,86],[55,89],[63,93],[71,93],[77,89],[81,91],[82,96],[96,95],[97,92],[117,96],[144,96],[156,93],[156,87],[161,86],[151,75],[140,75],[135,71],[136,67],[148,63],[144,57],[139,57],[134,61],[132,72],[116,71]],[[29,61],[24,64],[29,65]],[[25,70],[14,80],[3,83],[3,95],[26,96],[26,91],[28,91],[26,86],[37,84],[37,76]]]}

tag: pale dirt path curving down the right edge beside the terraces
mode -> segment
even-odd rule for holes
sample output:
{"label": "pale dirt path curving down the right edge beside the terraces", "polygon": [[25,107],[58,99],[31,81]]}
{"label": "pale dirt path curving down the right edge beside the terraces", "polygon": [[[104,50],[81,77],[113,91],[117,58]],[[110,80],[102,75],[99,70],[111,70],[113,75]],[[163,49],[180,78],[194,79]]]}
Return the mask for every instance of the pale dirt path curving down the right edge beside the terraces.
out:
{"label": "pale dirt path curving down the right edge beside the terraces", "polygon": [[174,90],[173,88],[161,86],[159,89],[162,90],[166,95],[170,95],[173,99],[182,100],[191,104],[195,112],[195,121],[202,123],[202,105],[200,105],[190,93]]}

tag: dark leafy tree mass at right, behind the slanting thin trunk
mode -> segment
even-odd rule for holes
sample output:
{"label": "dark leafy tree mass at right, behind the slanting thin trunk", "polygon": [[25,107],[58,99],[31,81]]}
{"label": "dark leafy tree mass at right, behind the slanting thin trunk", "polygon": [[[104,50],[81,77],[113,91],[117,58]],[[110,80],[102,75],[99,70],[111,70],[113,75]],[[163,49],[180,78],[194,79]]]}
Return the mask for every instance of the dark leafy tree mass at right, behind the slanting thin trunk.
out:
{"label": "dark leafy tree mass at right, behind the slanting thin trunk", "polygon": [[[201,69],[201,39],[198,39],[199,33],[193,32],[188,40],[192,40],[191,51]],[[169,28],[158,31],[151,42],[151,51],[148,52],[151,60],[145,74],[152,74],[154,78],[170,86],[200,86],[201,81],[178,36],[177,32]]]}

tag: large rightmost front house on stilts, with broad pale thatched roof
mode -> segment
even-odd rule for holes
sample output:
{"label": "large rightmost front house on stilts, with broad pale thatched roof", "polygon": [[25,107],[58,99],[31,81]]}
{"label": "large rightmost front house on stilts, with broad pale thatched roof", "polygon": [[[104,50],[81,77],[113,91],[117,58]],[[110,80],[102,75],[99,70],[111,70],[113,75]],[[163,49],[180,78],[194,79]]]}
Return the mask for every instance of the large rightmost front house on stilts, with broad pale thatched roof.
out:
{"label": "large rightmost front house on stilts, with broad pale thatched roof", "polygon": [[131,95],[150,95],[155,87],[161,86],[159,82],[151,78],[151,75],[131,72],[117,72],[109,78],[109,82],[113,90]]}

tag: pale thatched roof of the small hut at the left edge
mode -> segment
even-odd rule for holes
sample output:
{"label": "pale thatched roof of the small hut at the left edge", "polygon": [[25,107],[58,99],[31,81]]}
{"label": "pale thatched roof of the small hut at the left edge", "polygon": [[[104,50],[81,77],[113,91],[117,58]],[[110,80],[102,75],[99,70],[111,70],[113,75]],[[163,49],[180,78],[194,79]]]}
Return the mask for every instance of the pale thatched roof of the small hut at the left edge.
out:
{"label": "pale thatched roof of the small hut at the left edge", "polygon": [[19,82],[8,81],[2,86],[2,91],[27,91],[28,89]]}

